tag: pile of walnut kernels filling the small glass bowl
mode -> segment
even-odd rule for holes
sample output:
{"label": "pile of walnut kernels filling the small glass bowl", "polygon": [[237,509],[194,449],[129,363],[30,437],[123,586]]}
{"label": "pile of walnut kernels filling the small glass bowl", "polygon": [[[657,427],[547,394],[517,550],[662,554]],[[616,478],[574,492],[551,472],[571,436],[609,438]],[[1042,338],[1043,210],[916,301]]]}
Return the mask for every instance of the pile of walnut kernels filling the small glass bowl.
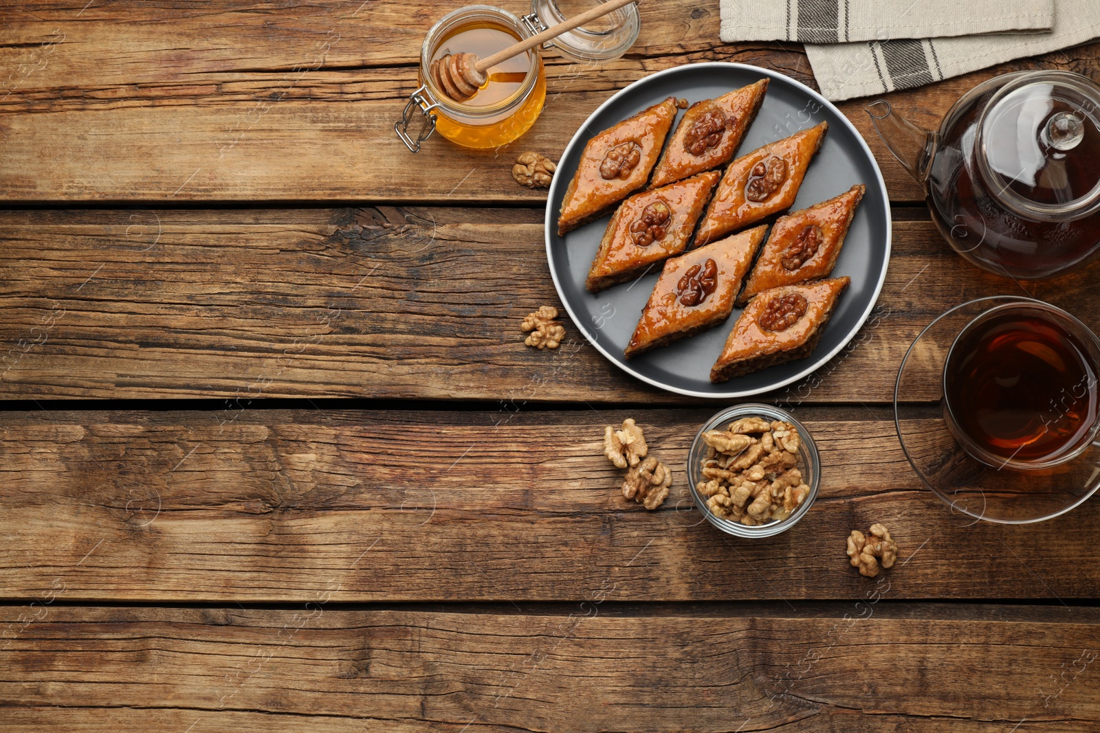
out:
{"label": "pile of walnut kernels filling the small glass bowl", "polygon": [[708,446],[704,480],[695,489],[716,517],[749,526],[782,521],[810,495],[798,468],[799,432],[791,423],[740,418],[726,430],[706,431],[703,442]]}

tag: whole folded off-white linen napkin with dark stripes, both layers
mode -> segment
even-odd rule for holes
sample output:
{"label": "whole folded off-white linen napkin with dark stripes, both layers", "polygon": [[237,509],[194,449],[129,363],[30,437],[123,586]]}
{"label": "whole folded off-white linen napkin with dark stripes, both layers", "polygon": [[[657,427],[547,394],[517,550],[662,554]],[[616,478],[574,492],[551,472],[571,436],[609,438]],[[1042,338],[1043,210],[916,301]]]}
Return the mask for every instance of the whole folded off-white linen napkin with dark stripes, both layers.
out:
{"label": "whole folded off-white linen napkin with dark stripes, both layers", "polygon": [[[1100,37],[1100,0],[722,0],[721,5],[726,43],[805,43],[817,85],[832,100],[911,89]],[[1047,10],[1052,14],[1043,20]]]}

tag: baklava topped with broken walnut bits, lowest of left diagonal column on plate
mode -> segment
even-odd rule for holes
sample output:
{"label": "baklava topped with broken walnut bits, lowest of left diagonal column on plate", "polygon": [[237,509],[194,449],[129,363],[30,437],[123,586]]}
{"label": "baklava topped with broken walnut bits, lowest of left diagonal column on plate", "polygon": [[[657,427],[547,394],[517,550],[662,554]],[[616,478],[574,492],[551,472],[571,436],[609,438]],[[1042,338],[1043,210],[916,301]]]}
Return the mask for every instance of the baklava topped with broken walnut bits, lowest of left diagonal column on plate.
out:
{"label": "baklava topped with broken walnut bits, lowest of left diagonal column on plate", "polygon": [[626,347],[626,357],[664,346],[729,318],[741,280],[767,230],[757,226],[667,259]]}

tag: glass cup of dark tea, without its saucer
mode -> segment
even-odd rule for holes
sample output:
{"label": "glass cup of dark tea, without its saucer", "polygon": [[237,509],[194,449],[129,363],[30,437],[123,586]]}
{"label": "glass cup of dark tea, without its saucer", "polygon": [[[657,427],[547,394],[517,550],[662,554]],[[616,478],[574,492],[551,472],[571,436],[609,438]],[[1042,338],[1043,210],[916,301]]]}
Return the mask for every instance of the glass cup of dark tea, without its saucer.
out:
{"label": "glass cup of dark tea, without its saucer", "polygon": [[1100,340],[1048,303],[1009,302],[966,324],[947,353],[944,419],[971,456],[999,470],[1043,470],[1100,432]]}

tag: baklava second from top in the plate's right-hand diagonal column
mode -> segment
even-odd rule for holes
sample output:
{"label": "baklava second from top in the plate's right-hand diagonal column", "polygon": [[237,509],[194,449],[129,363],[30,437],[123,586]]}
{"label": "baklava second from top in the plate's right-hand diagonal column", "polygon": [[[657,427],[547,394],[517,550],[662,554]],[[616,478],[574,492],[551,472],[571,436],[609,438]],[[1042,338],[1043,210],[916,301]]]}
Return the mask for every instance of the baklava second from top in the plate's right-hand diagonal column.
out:
{"label": "baklava second from top in the plate's right-hand diagonal column", "polygon": [[695,245],[789,209],[826,130],[828,123],[822,122],[730,163],[698,226]]}

